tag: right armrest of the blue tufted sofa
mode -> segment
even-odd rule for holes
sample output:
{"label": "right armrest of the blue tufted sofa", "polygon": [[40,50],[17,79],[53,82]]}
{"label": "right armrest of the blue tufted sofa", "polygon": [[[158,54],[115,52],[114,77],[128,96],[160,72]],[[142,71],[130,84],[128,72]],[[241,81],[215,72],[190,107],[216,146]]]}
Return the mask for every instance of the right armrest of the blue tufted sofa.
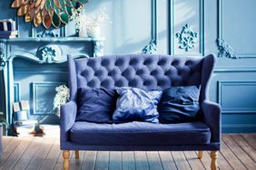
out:
{"label": "right armrest of the blue tufted sofa", "polygon": [[221,106],[209,100],[202,101],[203,121],[206,123],[212,132],[212,142],[220,142],[221,138]]}

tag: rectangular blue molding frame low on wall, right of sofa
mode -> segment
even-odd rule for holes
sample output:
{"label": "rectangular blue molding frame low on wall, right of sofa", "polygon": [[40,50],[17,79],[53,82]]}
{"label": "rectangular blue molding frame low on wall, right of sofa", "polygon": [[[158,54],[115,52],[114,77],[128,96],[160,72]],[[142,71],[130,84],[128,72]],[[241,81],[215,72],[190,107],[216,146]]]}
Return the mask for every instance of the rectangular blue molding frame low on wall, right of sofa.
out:
{"label": "rectangular blue molding frame low on wall, right of sofa", "polygon": [[[234,81],[234,80],[219,80],[218,81],[218,92],[217,92],[217,100],[218,103],[222,105],[222,113],[256,113],[256,107],[254,108],[239,108],[239,107],[232,107],[232,108],[225,108],[223,106],[223,99],[222,99],[222,88],[223,86],[255,86],[256,89],[256,81],[249,81],[249,80],[242,80],[242,81]],[[255,97],[256,98],[256,97]],[[256,100],[254,101],[256,102]]]}

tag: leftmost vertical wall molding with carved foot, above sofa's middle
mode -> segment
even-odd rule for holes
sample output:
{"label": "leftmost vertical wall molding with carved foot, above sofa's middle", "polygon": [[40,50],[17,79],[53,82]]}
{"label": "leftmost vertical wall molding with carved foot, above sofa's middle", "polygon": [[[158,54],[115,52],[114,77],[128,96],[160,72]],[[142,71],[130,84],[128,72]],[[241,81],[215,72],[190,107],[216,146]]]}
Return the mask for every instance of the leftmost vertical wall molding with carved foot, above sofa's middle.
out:
{"label": "leftmost vertical wall molding with carved foot, above sofa's middle", "polygon": [[157,50],[158,31],[157,31],[157,0],[152,1],[152,24],[151,24],[151,41],[143,47],[141,53],[153,54]]}

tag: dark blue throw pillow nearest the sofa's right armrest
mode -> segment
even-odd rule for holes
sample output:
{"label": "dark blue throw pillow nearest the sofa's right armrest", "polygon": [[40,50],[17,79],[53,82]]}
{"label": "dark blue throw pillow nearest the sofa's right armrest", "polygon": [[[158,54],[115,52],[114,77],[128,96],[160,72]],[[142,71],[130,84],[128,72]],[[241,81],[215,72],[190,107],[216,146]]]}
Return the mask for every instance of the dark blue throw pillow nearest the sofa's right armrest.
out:
{"label": "dark blue throw pillow nearest the sofa's right armrest", "polygon": [[196,86],[172,87],[162,91],[158,103],[160,123],[193,121],[198,113],[200,90]]}

